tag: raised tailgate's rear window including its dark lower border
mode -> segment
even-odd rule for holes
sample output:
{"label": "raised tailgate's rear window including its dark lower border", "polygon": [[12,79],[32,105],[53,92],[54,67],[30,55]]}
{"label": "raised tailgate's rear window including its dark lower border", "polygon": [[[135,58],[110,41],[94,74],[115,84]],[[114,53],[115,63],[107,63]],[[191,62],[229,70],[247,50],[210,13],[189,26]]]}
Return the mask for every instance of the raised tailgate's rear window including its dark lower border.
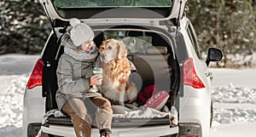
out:
{"label": "raised tailgate's rear window including its dark lower border", "polygon": [[51,0],[64,19],[163,19],[172,13],[173,0]]}

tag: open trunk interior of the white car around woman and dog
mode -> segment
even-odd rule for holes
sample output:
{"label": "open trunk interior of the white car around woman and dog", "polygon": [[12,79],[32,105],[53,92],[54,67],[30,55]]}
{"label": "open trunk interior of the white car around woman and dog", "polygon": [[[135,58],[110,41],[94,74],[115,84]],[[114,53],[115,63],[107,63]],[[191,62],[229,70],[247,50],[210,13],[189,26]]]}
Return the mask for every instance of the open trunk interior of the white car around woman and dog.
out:
{"label": "open trunk interior of the white car around woman and dog", "polygon": [[[161,106],[158,110],[141,106],[138,110],[125,111],[125,114],[113,114],[113,128],[170,124],[169,112],[172,106],[175,106],[180,82],[180,70],[173,49],[176,47],[175,39],[166,31],[154,27],[114,26],[106,29],[103,26],[92,26],[92,28],[96,35],[94,41],[97,47],[103,40],[109,38],[116,38],[125,43],[128,49],[127,57],[136,67],[131,73],[130,81],[136,83],[139,92],[144,92],[145,88],[154,85],[157,88],[154,92],[165,91],[169,94],[164,102],[157,102],[158,106]],[[61,36],[61,33],[57,36]],[[43,72],[46,112],[57,109],[55,92],[58,86],[55,71],[58,60],[63,54],[63,47],[58,39],[60,37],[55,35],[49,38],[42,58],[46,64]],[[155,94],[157,95],[151,97],[160,98],[160,94]],[[54,115],[48,117],[44,126],[49,124],[73,126],[69,117]]]}

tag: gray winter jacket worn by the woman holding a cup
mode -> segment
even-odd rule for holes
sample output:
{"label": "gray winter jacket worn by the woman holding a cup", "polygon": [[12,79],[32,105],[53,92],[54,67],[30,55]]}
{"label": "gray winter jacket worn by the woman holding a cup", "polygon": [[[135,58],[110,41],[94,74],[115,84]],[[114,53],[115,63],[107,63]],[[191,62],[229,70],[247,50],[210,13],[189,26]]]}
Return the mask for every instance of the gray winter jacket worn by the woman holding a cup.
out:
{"label": "gray winter jacket worn by the woman holding a cup", "polygon": [[[65,48],[77,49],[68,36],[63,36],[61,41]],[[90,93],[90,77],[93,67],[96,66],[98,51],[94,54],[97,54],[96,57],[90,60],[78,60],[74,58],[75,54],[68,54],[65,51],[61,55],[56,70],[59,88],[55,96],[60,110],[67,100],[72,98],[101,96],[99,93]]]}

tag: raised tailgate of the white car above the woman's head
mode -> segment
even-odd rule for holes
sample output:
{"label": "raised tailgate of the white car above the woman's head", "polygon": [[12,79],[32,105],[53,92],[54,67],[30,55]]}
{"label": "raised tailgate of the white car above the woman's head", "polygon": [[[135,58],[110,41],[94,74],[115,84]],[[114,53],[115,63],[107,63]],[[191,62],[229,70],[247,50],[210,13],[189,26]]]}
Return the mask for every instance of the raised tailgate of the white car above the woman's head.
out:
{"label": "raised tailgate of the white car above the woman's head", "polygon": [[51,20],[179,20],[187,0],[39,0]]}

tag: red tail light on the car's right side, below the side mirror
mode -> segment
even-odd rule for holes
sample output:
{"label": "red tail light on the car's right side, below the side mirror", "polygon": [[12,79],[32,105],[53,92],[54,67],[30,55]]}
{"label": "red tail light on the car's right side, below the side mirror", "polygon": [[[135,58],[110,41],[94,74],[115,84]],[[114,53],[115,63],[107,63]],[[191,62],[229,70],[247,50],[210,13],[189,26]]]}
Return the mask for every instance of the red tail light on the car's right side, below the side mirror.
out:
{"label": "red tail light on the car's right side, below the side mirror", "polygon": [[183,63],[183,83],[184,85],[189,85],[193,88],[205,88],[204,83],[195,73],[195,67],[193,59],[189,58]]}

